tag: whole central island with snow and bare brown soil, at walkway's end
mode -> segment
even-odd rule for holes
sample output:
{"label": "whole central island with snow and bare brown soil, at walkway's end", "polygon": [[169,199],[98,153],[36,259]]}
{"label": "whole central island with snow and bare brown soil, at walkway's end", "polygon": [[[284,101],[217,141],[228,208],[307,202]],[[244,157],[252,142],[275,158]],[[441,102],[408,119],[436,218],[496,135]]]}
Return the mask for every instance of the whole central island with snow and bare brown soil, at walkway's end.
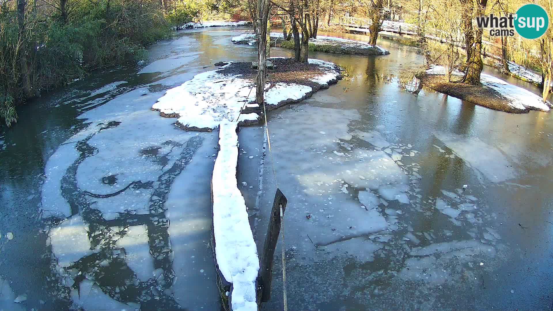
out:
{"label": "whole central island with snow and bare brown soil, at walkway's end", "polygon": [[[269,61],[274,69],[268,70],[265,84],[268,110],[304,100],[342,79],[340,68],[323,60],[295,63],[291,58],[269,58]],[[252,103],[255,75],[257,70],[252,69],[251,62],[226,63],[168,90],[152,110],[164,117],[178,117],[176,125],[192,131],[212,131],[222,121],[257,124],[263,107]]]}

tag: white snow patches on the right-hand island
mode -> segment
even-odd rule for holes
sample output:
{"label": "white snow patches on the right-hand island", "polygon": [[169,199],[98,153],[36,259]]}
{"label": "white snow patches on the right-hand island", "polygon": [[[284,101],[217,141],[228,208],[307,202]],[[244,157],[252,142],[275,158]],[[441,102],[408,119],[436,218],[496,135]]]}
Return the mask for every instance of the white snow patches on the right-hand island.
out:
{"label": "white snow patches on the right-hand island", "polygon": [[[436,74],[436,75],[445,75],[444,66],[432,66],[429,70],[426,70],[427,74]],[[463,73],[460,71],[453,71],[453,75],[462,76]],[[504,80],[501,80],[497,77],[484,74],[480,75],[480,81],[482,85],[489,87],[492,90],[497,91],[503,97],[508,99],[507,102],[510,107],[515,110],[541,110],[541,111],[550,111],[550,103],[544,102],[540,96],[530,92],[522,87],[512,85],[507,83]]]}

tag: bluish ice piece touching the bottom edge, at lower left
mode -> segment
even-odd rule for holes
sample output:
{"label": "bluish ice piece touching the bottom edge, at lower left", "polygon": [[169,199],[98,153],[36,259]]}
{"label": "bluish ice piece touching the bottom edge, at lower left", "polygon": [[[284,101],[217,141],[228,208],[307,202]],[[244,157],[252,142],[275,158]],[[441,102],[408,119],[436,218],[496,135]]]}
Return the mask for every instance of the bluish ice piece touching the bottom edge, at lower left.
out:
{"label": "bluish ice piece touching the bottom edge, at lower left", "polygon": [[107,294],[102,292],[102,289],[90,279],[83,279],[80,283],[80,292],[77,289],[71,290],[71,299],[76,307],[80,307],[85,311],[131,311],[139,304],[131,303],[124,304],[115,299],[112,299]]}

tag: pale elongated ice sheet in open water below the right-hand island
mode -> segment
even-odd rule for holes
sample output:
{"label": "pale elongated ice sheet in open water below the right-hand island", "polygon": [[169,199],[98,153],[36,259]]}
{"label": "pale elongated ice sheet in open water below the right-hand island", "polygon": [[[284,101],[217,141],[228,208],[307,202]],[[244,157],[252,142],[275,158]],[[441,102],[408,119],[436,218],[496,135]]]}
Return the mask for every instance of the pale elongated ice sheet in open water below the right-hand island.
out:
{"label": "pale elongated ice sheet in open water below the right-hand island", "polygon": [[457,138],[442,132],[435,132],[434,136],[491,182],[499,183],[517,177],[509,159],[477,137]]}

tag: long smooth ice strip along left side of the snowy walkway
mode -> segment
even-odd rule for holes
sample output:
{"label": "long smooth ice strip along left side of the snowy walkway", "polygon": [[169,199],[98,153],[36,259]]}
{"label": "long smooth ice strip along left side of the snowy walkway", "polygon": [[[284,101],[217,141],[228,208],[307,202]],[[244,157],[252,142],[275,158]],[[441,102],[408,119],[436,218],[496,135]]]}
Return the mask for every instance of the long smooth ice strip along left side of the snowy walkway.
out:
{"label": "long smooth ice strip along left side of the snowy walkway", "polygon": [[[175,178],[165,203],[176,274],[170,291],[182,308],[221,309],[215,281],[211,240],[211,174],[216,133],[201,133],[205,140],[192,162]],[[190,182],[194,180],[194,182]],[[192,251],[193,250],[193,251]],[[204,272],[200,272],[203,270]]]}

